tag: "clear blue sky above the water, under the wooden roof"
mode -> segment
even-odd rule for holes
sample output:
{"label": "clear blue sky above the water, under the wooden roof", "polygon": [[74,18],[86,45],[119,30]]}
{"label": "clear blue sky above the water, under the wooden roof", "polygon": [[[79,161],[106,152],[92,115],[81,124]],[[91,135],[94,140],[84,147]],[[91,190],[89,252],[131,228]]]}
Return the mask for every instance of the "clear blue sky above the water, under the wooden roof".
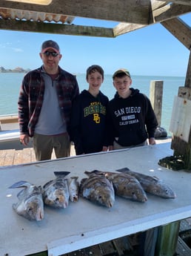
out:
{"label": "clear blue sky above the water, under the wooden roof", "polygon": [[[191,26],[191,13],[181,16]],[[74,19],[74,24],[90,25],[90,20]],[[115,23],[96,21],[96,25],[114,27]],[[90,36],[65,36],[47,33],[0,30],[0,66],[6,69],[38,68],[41,43],[53,39],[61,47],[61,68],[71,73],[85,73],[93,64],[106,74],[127,68],[133,75],[185,76],[190,56],[181,42],[161,24],[150,25],[115,39]]]}

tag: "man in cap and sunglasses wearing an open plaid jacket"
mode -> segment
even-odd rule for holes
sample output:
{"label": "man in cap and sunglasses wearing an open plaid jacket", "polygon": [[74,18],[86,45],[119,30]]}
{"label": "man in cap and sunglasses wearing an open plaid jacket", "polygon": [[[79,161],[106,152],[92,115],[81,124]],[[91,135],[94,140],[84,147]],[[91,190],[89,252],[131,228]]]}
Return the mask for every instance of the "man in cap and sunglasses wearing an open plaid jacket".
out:
{"label": "man in cap and sunglasses wearing an open plaid jacket", "polygon": [[76,76],[60,68],[60,47],[53,40],[41,45],[43,65],[28,72],[19,93],[20,142],[33,137],[36,160],[70,156],[70,114],[79,93]]}

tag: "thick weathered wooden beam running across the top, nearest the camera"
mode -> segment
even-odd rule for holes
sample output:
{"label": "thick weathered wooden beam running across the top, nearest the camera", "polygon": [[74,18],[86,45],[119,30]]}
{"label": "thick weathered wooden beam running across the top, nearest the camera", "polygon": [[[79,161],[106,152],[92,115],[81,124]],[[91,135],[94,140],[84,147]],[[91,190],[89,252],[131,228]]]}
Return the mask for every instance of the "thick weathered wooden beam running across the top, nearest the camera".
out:
{"label": "thick weathered wooden beam running across the top, nearest the camera", "polygon": [[0,0],[0,7],[136,24],[147,24],[150,14],[150,0],[53,0],[48,5]]}

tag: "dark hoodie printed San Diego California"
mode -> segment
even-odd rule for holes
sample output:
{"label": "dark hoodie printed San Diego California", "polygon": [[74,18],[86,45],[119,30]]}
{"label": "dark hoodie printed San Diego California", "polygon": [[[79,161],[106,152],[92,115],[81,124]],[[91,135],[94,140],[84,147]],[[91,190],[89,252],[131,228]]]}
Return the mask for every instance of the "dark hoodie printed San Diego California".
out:
{"label": "dark hoodie printed San Diego California", "polygon": [[126,99],[115,93],[108,105],[110,145],[115,140],[121,146],[138,145],[154,137],[158,122],[150,99],[138,89],[130,88]]}

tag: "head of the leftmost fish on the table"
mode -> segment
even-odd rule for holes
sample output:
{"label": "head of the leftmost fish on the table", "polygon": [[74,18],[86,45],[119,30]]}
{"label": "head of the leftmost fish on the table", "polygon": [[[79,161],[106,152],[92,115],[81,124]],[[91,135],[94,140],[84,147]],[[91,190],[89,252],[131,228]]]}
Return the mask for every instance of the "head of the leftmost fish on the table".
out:
{"label": "head of the leftmost fish on the table", "polygon": [[33,196],[17,205],[16,212],[28,220],[43,220],[44,203],[41,197]]}

